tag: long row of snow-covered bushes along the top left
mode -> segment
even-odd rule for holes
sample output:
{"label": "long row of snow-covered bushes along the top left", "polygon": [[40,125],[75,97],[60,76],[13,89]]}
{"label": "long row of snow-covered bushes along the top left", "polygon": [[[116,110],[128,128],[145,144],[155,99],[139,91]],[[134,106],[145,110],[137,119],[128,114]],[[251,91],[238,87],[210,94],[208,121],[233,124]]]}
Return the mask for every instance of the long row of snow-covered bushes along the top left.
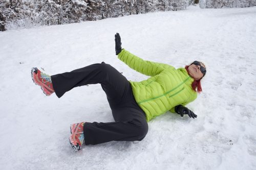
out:
{"label": "long row of snow-covered bushes along the top left", "polygon": [[185,10],[192,0],[1,0],[0,31],[61,25],[156,11]]}

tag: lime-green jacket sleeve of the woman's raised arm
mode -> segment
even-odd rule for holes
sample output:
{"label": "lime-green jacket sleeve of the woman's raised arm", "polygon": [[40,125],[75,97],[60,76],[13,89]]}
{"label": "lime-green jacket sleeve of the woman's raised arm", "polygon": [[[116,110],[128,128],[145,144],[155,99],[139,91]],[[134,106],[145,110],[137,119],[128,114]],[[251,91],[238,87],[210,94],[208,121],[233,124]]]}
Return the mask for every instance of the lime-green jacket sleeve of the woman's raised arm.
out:
{"label": "lime-green jacket sleeve of the woman's raised arm", "polygon": [[166,68],[174,68],[168,64],[145,61],[124,49],[122,49],[122,51],[118,54],[118,59],[127,64],[132,69],[146,76],[155,76]]}

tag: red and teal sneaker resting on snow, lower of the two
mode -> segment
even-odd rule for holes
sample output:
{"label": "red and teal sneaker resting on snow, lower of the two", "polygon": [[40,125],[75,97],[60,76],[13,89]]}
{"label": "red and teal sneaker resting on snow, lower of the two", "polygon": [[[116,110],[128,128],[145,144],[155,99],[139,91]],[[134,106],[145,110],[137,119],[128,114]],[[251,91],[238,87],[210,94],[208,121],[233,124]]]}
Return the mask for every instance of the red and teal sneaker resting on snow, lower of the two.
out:
{"label": "red and teal sneaker resting on snow, lower of the two", "polygon": [[82,149],[82,145],[84,141],[83,125],[84,125],[84,122],[81,122],[79,124],[72,124],[70,126],[71,135],[69,137],[69,142],[72,148],[75,150],[75,152]]}

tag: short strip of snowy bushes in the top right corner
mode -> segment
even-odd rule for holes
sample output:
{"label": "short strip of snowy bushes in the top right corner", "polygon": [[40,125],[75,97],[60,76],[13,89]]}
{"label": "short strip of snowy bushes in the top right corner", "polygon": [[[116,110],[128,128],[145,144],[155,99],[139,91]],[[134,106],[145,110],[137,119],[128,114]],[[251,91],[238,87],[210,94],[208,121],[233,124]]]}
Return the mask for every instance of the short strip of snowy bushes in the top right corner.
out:
{"label": "short strip of snowy bushes in the top right corner", "polygon": [[200,8],[244,8],[256,6],[256,0],[200,0]]}

